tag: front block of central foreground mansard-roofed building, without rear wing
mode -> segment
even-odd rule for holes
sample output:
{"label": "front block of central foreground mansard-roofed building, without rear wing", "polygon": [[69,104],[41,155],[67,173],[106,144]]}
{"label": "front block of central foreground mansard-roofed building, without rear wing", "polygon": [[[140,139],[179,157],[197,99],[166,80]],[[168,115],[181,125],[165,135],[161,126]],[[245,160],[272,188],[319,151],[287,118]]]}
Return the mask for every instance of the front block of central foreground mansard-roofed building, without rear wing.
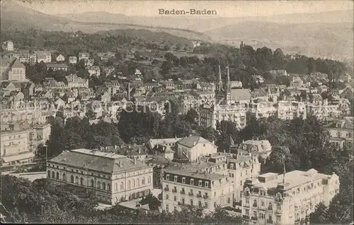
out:
{"label": "front block of central foreground mansard-roofed building, without rear wing", "polygon": [[234,188],[229,176],[168,166],[164,169],[162,187],[162,209],[166,212],[180,211],[188,205],[208,211],[217,206],[232,206]]}

